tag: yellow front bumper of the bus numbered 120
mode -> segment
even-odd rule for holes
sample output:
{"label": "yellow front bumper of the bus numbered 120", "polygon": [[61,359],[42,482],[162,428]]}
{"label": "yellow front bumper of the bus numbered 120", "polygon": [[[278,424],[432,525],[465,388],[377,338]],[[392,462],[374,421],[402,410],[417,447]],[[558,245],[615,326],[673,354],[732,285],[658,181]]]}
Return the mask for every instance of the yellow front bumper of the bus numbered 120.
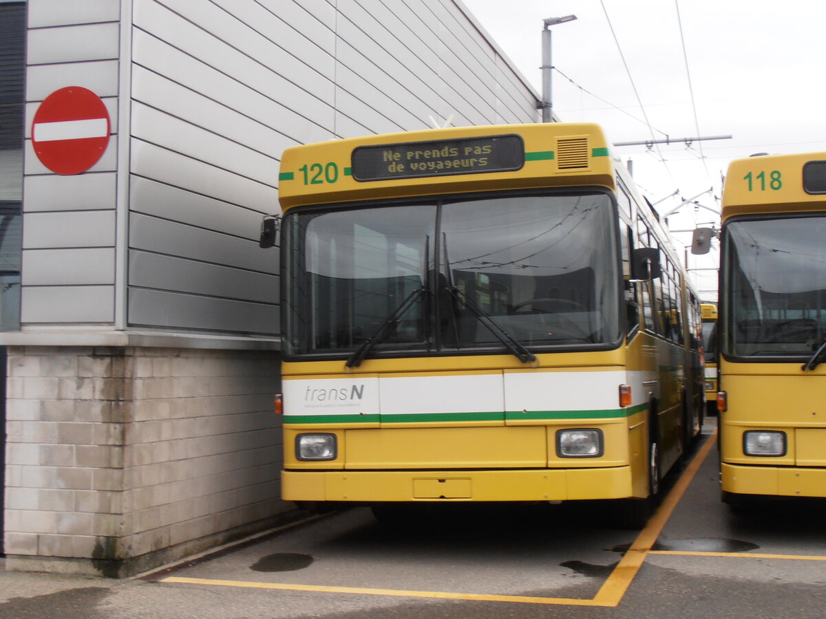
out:
{"label": "yellow front bumper of the bus numbered 120", "polygon": [[282,499],[289,501],[533,502],[634,496],[629,466],[542,470],[284,470],[281,483]]}

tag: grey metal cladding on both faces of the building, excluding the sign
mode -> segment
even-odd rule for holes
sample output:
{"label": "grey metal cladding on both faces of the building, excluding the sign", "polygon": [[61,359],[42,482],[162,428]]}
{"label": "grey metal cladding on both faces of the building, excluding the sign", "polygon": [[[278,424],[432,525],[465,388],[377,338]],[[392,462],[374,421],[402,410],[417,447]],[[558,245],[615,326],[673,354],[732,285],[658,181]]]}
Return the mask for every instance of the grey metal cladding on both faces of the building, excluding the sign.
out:
{"label": "grey metal cladding on both faces of the building, excluding the sign", "polygon": [[[36,289],[27,309],[56,281],[46,272],[50,257],[61,260],[66,284],[112,281],[126,75],[131,251],[122,275],[140,291],[127,304],[127,324],[140,328],[277,330],[261,321],[277,313],[278,255],[256,241],[261,215],[278,210],[283,149],[421,129],[429,116],[453,115],[454,125],[537,120],[534,94],[453,0],[133,0],[128,66],[120,9],[30,2],[26,125],[51,92],[78,85],[104,98],[113,135],[101,161],[77,177],[49,172],[26,141],[31,278],[23,283]],[[174,311],[152,305],[164,302]],[[230,319],[233,304],[249,319]],[[111,317],[106,310],[80,319],[75,306],[69,314],[83,323]],[[59,322],[41,310],[31,315]]]}

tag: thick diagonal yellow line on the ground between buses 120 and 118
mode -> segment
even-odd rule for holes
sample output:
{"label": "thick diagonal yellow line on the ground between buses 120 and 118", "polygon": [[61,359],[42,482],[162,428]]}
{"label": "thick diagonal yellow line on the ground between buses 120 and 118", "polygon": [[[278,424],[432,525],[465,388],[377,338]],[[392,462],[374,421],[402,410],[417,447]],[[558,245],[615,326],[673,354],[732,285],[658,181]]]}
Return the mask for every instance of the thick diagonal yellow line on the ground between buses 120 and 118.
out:
{"label": "thick diagonal yellow line on the ground between buses 120 and 118", "polygon": [[674,508],[676,508],[676,504],[680,502],[682,495],[686,493],[686,489],[688,489],[689,484],[691,484],[691,480],[694,480],[694,476],[697,474],[697,471],[700,470],[700,465],[705,461],[705,457],[709,455],[711,447],[714,447],[716,435],[717,432],[715,431],[714,434],[706,439],[699,453],[697,453],[694,460],[691,461],[691,464],[686,467],[680,479],[674,484],[672,491],[668,493],[666,499],[662,501],[660,508],[657,509],[657,512],[654,513],[653,517],[648,521],[648,525],[639,533],[637,539],[634,540],[634,543],[631,544],[625,552],[623,558],[619,560],[619,563],[614,568],[614,571],[611,572],[605,584],[603,584],[596,593],[594,602],[600,602],[601,606],[615,607],[622,600],[631,581],[634,580],[639,568],[643,565],[645,558],[657,541],[657,537],[660,536],[662,528],[666,526],[666,522],[668,522],[668,518],[671,517]]}

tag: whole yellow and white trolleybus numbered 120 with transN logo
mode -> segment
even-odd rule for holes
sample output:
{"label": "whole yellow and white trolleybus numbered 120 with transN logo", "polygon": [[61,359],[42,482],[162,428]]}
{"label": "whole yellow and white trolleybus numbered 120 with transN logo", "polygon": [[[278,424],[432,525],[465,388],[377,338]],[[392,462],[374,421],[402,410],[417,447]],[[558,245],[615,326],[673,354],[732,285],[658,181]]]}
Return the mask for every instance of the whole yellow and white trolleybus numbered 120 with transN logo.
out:
{"label": "whole yellow and white trolleybus numbered 120 with transN logo", "polygon": [[699,432],[700,304],[599,127],[299,146],[279,201],[284,499],[643,524]]}

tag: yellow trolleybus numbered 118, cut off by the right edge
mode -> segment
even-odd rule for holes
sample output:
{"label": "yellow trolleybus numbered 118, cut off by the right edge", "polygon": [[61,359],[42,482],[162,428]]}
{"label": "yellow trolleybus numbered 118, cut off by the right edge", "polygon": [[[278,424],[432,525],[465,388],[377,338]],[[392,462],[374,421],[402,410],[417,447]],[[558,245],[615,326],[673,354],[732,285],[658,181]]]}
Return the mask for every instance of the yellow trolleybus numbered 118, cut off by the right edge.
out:
{"label": "yellow trolleybus numbered 118, cut off by the right edge", "polygon": [[826,497],[826,153],[732,162],[722,220],[724,500]]}

